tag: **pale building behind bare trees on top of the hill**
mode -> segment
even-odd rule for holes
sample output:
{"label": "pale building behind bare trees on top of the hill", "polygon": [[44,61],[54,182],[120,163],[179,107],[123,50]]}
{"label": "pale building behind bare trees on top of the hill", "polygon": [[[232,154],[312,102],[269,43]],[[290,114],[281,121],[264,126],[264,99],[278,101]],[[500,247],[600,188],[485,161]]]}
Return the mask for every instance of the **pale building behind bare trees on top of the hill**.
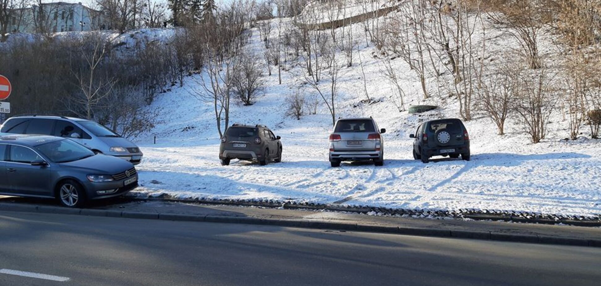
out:
{"label": "pale building behind bare trees on top of the hill", "polygon": [[51,2],[11,11],[8,33],[50,33],[66,31],[108,30],[103,11],[79,3]]}

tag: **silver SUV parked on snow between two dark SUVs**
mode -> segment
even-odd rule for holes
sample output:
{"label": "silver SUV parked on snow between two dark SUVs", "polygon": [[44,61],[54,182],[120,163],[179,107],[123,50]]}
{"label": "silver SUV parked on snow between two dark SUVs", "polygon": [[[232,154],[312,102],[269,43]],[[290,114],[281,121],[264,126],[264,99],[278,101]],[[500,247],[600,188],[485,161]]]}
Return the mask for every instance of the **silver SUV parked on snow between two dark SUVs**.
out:
{"label": "silver SUV parked on snow between two dark SUVs", "polygon": [[376,166],[384,164],[384,140],[373,118],[339,119],[330,134],[329,160],[332,167],[341,161],[373,160]]}

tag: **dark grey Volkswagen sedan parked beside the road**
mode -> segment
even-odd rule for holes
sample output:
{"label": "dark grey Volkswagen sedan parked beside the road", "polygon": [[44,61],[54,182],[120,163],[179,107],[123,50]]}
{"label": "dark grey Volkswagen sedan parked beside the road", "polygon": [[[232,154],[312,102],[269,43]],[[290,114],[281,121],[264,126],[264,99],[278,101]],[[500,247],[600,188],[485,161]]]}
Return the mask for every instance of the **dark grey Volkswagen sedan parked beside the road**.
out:
{"label": "dark grey Volkswagen sedan parked beside the road", "polygon": [[56,198],[66,207],[138,187],[132,163],[94,154],[72,140],[0,134],[0,194]]}

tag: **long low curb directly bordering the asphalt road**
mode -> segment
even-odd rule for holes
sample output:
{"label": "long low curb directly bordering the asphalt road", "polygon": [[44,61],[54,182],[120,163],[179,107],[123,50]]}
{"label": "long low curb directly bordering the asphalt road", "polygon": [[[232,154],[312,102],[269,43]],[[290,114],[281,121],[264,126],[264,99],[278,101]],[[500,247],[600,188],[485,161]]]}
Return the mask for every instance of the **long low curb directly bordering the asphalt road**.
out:
{"label": "long low curb directly bordering the asphalt road", "polygon": [[258,219],[243,216],[195,216],[190,214],[141,213],[133,211],[112,211],[96,209],[73,209],[46,205],[0,203],[0,211],[20,211],[27,213],[72,214],[81,216],[124,217],[129,219],[157,219],[183,222],[245,223],[249,225],[272,225],[295,228],[335,229],[340,231],[378,232],[386,234],[416,235],[424,237],[454,237],[477,240],[511,241],[522,243],[560,244],[572,246],[601,247],[601,239],[571,237],[551,237],[530,234],[509,234],[501,232],[456,231],[434,228],[406,228],[397,226],[357,225],[353,223],[319,222],[313,220]]}

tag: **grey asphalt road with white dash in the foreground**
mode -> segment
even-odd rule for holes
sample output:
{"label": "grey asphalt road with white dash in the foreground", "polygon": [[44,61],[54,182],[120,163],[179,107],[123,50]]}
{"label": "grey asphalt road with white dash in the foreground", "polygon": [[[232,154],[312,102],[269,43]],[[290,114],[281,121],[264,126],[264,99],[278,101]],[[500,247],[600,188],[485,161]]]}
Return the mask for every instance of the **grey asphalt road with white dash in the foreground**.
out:
{"label": "grey asphalt road with white dash in the foreground", "polygon": [[594,247],[0,211],[1,286],[600,281]]}

